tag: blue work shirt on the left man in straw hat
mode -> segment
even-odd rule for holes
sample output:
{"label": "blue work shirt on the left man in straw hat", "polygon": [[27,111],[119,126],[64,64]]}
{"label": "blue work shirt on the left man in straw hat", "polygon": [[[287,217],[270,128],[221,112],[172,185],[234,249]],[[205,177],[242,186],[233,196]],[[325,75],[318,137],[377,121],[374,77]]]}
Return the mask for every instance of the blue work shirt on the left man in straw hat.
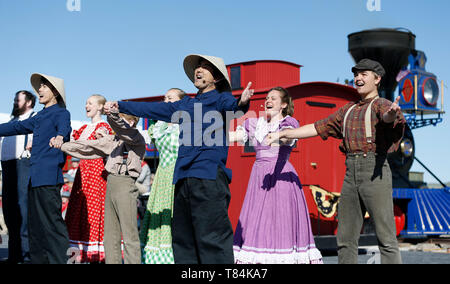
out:
{"label": "blue work shirt on the left man in straw hat", "polygon": [[66,156],[61,150],[50,147],[49,143],[58,135],[67,142],[71,132],[70,113],[57,104],[44,108],[29,119],[0,124],[0,136],[33,133],[30,158],[32,187],[64,184],[62,168]]}

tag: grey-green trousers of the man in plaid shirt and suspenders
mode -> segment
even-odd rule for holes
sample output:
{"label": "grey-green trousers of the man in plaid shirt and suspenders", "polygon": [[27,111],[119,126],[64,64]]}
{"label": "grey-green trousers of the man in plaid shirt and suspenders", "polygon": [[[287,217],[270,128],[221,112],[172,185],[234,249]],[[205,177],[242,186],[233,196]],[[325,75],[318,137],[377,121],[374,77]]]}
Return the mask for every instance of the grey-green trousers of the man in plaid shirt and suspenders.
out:
{"label": "grey-green trousers of the man in plaid shirt and suspenders", "polygon": [[392,174],[386,156],[348,155],[338,205],[339,263],[358,262],[358,240],[364,215],[375,224],[381,263],[401,263],[392,200]]}

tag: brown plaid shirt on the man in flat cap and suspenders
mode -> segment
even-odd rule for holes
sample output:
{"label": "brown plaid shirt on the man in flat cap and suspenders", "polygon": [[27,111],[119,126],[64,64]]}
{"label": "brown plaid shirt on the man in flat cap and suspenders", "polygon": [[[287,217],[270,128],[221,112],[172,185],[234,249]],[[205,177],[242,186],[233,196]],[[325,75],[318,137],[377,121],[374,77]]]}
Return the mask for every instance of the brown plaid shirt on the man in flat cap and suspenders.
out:
{"label": "brown plaid shirt on the man in flat cap and suspenders", "polygon": [[[382,120],[383,114],[389,109],[392,102],[379,98],[372,104],[372,143],[366,140],[364,117],[366,110],[372,99],[351,102],[341,107],[337,112],[329,117],[316,121],[314,126],[317,133],[323,140],[329,136],[342,139],[339,149],[344,153],[368,153],[379,154],[391,153],[397,150],[405,128],[406,120],[402,113],[397,115],[393,123],[385,123]],[[346,122],[345,138],[342,135],[344,116],[346,112],[356,104]]]}

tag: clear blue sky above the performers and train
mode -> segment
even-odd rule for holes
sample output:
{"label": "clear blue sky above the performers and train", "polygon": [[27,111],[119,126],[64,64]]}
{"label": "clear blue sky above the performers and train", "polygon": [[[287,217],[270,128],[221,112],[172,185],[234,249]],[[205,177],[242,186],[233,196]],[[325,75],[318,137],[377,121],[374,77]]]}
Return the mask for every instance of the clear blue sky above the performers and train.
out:
{"label": "clear blue sky above the performers and train", "polygon": [[[90,94],[109,100],[195,89],[182,61],[190,53],[220,56],[227,64],[278,59],[301,64],[302,82],[343,82],[354,61],[347,35],[403,27],[416,35],[427,70],[450,85],[450,1],[380,0],[0,0],[0,113],[30,89],[33,72],[65,79],[68,110],[85,120]],[[446,87],[445,92],[450,98]],[[445,101],[449,110],[450,99]],[[41,106],[37,107],[40,110]],[[450,181],[450,122],[414,130],[416,155]],[[412,170],[424,171],[417,163]],[[425,180],[435,182],[425,174]]]}

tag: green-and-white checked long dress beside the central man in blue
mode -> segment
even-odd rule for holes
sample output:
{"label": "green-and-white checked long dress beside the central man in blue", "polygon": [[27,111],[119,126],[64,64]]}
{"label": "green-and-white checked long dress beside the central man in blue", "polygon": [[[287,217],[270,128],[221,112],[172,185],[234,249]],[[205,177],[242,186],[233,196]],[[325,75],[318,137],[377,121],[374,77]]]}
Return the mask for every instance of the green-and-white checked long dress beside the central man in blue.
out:
{"label": "green-and-white checked long dress beside the central man in blue", "polygon": [[158,121],[148,131],[159,152],[159,165],[141,224],[142,262],[171,264],[174,263],[171,225],[175,189],[172,182],[178,156],[179,125]]}

